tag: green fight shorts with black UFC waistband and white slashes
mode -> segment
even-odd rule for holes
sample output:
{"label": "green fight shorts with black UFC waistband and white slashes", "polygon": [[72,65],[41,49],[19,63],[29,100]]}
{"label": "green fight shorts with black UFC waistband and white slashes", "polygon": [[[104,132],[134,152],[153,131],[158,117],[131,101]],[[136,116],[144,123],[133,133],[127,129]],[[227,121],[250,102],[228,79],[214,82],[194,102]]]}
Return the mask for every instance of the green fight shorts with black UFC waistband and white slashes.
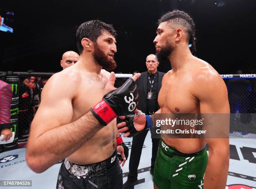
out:
{"label": "green fight shorts with black UFC waistband and white slashes", "polygon": [[160,140],[154,184],[158,189],[203,189],[207,161],[206,148],[197,153],[186,154]]}

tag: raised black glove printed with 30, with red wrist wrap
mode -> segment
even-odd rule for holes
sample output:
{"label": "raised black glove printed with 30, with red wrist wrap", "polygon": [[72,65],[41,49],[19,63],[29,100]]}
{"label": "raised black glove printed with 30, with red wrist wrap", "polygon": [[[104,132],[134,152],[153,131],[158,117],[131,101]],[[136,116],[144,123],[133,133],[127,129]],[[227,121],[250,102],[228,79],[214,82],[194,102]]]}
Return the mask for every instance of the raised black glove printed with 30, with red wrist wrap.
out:
{"label": "raised black glove printed with 30, with red wrist wrap", "polygon": [[118,115],[129,115],[138,105],[138,87],[130,78],[121,87],[108,92],[90,111],[106,126]]}

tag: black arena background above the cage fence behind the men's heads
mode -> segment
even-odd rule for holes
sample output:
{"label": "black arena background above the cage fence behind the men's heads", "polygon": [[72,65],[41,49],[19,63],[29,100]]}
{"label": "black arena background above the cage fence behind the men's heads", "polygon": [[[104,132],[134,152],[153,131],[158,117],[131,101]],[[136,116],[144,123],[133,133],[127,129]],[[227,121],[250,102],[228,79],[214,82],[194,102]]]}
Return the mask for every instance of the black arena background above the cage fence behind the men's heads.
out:
{"label": "black arena background above the cage fence behind the men's heads", "polygon": [[146,56],[155,53],[157,20],[178,8],[194,18],[197,57],[220,74],[256,72],[255,0],[13,0],[0,8],[15,13],[14,33],[0,31],[0,71],[61,71],[64,51],[77,51],[77,27],[92,19],[118,32],[115,72],[145,71]]}

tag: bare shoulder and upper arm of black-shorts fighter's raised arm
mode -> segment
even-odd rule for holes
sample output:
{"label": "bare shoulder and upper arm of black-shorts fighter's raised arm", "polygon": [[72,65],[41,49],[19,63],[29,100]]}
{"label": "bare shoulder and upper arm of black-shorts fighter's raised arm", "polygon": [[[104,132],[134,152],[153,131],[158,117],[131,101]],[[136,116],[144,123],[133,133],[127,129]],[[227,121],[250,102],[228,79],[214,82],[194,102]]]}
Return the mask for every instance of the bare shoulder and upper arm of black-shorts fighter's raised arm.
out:
{"label": "bare shoulder and upper arm of black-shorts fighter's raised arm", "polygon": [[48,130],[70,123],[73,116],[72,99],[77,92],[74,72],[58,72],[44,86],[41,103],[31,124],[33,141]]}

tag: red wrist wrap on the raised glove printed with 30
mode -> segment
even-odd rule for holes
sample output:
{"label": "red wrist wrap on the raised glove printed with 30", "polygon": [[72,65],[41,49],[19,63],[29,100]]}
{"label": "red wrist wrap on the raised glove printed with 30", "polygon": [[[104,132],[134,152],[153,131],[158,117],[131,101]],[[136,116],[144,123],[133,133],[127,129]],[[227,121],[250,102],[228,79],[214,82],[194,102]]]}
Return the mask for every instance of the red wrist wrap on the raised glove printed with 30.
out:
{"label": "red wrist wrap on the raised glove printed with 30", "polygon": [[101,100],[100,102],[98,102],[93,108],[92,110],[95,111],[95,113],[97,115],[99,115],[102,120],[108,125],[108,123],[110,123],[113,119],[115,119],[115,117],[117,117],[117,115],[115,114],[115,112],[112,110],[112,108],[108,105],[107,102],[105,102],[104,100]]}

